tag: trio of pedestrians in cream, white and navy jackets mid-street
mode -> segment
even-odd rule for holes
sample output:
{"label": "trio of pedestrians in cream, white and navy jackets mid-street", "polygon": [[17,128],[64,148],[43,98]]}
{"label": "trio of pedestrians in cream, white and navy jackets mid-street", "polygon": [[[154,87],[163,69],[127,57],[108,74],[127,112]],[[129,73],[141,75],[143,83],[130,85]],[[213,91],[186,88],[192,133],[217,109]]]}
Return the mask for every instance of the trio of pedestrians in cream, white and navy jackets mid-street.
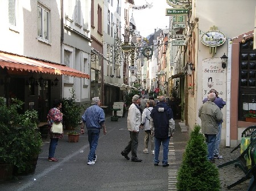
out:
{"label": "trio of pedestrians in cream, white and navy jackets mid-street", "polygon": [[[130,140],[121,155],[129,160],[131,152],[132,162],[142,162],[137,156],[138,134],[144,128],[144,153],[148,153],[148,142],[151,141],[151,154],[154,154],[154,165],[158,166],[160,145],[163,145],[163,167],[168,167],[168,145],[170,137],[174,135],[175,124],[170,106],[166,103],[166,97],[160,96],[158,104],[154,100],[148,100],[146,108],[141,116],[141,96],[133,96],[133,104],[130,105],[127,116],[127,129],[130,133]],[[153,141],[154,136],[154,141]],[[153,149],[154,148],[154,149]]]}

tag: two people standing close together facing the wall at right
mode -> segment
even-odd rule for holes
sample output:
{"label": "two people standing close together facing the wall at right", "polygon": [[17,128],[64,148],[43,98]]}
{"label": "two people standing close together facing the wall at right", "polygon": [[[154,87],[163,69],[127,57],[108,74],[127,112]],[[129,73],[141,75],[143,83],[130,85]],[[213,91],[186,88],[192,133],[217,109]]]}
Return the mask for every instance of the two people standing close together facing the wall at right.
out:
{"label": "two people standing close together facing the wall at right", "polygon": [[208,97],[203,100],[203,105],[199,108],[201,131],[205,135],[208,147],[207,158],[212,163],[215,162],[214,159],[222,159],[219,154],[223,122],[221,109],[225,105],[226,102],[221,97],[218,97],[218,92],[211,89]]}

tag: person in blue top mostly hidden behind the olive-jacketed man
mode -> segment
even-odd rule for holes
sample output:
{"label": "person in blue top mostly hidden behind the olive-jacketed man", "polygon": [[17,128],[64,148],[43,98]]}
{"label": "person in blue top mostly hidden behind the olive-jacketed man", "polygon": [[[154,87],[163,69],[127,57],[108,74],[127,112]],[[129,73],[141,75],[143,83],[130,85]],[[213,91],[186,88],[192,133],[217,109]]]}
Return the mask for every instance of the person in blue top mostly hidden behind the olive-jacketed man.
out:
{"label": "person in blue top mostly hidden behind the olive-jacketed man", "polygon": [[[210,93],[214,93],[216,95],[216,99],[214,100],[214,103],[220,108],[224,108],[224,106],[226,105],[226,102],[224,100],[222,100],[221,97],[218,97],[218,92],[214,89],[210,90]],[[207,97],[205,97],[205,99],[203,100],[203,103],[205,103],[206,101],[208,100]],[[218,123],[218,134],[217,134],[217,137],[216,137],[216,143],[215,143],[215,148],[214,148],[214,151],[213,151],[213,156],[214,156],[214,159],[222,159],[223,157],[220,155],[220,152],[219,152],[219,148],[220,148],[220,142],[221,142],[221,129],[222,129],[222,122],[219,122]]]}

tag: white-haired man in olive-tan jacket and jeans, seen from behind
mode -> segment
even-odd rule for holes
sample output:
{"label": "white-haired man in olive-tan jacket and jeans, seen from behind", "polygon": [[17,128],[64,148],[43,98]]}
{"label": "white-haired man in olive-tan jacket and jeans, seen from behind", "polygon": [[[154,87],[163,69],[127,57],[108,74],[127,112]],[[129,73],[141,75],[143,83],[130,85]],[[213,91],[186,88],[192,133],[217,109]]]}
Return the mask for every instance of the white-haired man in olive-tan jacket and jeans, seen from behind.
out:
{"label": "white-haired man in olive-tan jacket and jeans, seen from behind", "polygon": [[213,151],[216,143],[216,135],[218,134],[218,124],[222,121],[223,114],[220,108],[214,103],[216,99],[215,93],[208,95],[208,101],[199,108],[199,117],[202,121],[202,133],[207,139],[208,160],[214,163]]}

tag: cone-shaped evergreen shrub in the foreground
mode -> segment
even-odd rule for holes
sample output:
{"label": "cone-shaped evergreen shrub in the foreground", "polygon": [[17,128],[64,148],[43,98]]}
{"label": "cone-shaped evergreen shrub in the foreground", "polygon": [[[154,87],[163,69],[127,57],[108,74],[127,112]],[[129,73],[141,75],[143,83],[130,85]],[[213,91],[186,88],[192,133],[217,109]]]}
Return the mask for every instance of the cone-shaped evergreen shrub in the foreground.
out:
{"label": "cone-shaped evergreen shrub in the foreground", "polygon": [[187,143],[177,175],[178,191],[220,190],[218,169],[207,159],[207,144],[200,129],[200,125],[194,126]]}

